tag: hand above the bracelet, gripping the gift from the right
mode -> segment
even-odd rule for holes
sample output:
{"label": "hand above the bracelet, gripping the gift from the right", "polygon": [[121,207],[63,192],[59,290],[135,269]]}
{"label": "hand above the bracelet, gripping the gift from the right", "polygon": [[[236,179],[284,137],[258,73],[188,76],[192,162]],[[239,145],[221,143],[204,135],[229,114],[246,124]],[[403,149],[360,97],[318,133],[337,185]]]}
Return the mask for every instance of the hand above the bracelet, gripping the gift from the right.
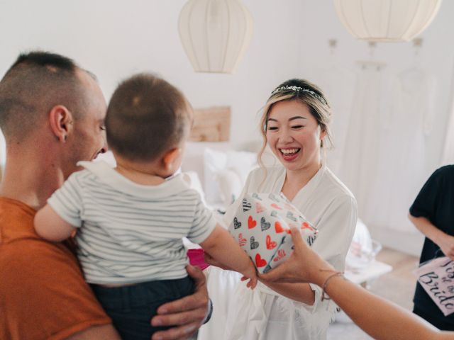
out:
{"label": "hand above the bracelet, gripping the gift from the right", "polygon": [[277,268],[260,274],[260,280],[270,282],[299,282],[323,285],[326,273],[335,269],[319,254],[309,248],[297,228],[291,228],[294,251],[292,255]]}

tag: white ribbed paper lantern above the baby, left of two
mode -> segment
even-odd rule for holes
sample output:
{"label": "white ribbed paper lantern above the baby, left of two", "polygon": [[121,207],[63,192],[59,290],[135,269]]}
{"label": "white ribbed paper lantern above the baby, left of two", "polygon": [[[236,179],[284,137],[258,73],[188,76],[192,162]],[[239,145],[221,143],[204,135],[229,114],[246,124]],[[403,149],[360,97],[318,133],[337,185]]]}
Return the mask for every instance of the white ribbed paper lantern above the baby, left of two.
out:
{"label": "white ribbed paper lantern above the baby, left of two", "polygon": [[233,73],[252,38],[253,18],[240,0],[189,0],[178,28],[196,72]]}

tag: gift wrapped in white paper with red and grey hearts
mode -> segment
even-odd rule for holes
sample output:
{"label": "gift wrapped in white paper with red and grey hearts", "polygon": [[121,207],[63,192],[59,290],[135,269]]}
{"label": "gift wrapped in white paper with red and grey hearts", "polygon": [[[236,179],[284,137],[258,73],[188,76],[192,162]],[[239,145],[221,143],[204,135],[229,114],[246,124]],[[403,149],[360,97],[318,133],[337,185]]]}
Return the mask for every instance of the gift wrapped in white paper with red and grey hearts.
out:
{"label": "gift wrapped in white paper with red and grey hearts", "polygon": [[260,273],[279,266],[293,251],[290,227],[297,227],[311,246],[318,230],[284,195],[251,193],[243,197],[228,227]]}

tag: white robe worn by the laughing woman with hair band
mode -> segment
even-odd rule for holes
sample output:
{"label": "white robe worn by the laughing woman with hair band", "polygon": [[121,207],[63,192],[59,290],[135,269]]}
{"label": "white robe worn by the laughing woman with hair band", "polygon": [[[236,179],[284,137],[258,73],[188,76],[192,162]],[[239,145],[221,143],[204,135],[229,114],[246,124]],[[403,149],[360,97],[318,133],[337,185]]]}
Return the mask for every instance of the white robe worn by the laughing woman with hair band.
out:
{"label": "white robe worn by the laughing woman with hair band", "polygon": [[[282,166],[251,172],[242,196],[228,209],[226,222],[233,218],[244,193],[279,193],[284,179]],[[319,228],[314,250],[343,271],[357,220],[352,193],[322,166],[292,203]],[[199,340],[326,339],[336,305],[329,300],[321,302],[321,288],[311,285],[316,297],[314,305],[309,306],[283,297],[261,283],[250,290],[239,277],[238,273],[210,269],[208,288],[214,313],[210,322],[201,327]]]}

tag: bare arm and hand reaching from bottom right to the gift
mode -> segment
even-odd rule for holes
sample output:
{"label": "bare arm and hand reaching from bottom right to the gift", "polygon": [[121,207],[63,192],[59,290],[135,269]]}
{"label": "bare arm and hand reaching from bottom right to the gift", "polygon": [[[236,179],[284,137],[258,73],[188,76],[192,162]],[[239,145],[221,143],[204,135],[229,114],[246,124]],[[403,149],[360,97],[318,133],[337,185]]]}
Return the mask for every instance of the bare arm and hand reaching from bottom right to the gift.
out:
{"label": "bare arm and hand reaching from bottom right to the gift", "polygon": [[[272,282],[311,282],[323,287],[336,270],[304,243],[297,229],[292,229],[292,239],[295,245],[292,256],[260,278]],[[441,332],[416,315],[341,276],[328,281],[326,293],[374,339],[454,340],[454,332]]]}

